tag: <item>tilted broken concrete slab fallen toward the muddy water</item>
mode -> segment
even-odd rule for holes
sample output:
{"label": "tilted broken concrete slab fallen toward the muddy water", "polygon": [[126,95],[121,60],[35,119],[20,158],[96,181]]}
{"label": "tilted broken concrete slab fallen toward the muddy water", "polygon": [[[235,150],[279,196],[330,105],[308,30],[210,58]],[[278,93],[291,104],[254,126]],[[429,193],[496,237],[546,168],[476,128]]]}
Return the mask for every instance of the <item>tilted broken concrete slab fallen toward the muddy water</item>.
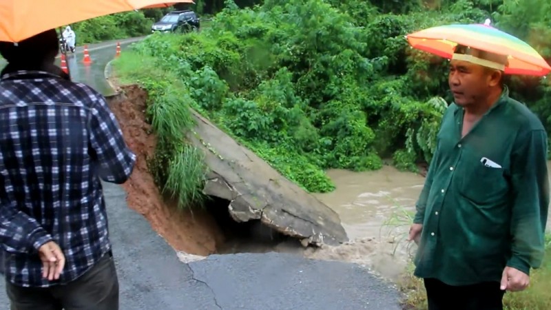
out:
{"label": "tilted broken concrete slab fallen toward the muddy water", "polygon": [[348,241],[339,216],[313,195],[191,110],[197,126],[188,135],[205,152],[210,169],[203,192],[229,200],[238,222],[260,220],[303,244],[338,245]]}

